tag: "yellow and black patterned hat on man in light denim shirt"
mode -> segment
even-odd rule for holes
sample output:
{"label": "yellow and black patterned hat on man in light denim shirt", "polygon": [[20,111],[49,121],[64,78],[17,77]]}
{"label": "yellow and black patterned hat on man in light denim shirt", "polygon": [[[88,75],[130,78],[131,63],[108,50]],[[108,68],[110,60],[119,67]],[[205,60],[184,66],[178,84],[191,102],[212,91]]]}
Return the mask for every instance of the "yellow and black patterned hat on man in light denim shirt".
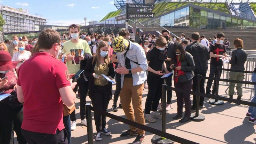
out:
{"label": "yellow and black patterned hat on man in light denim shirt", "polygon": [[113,51],[115,53],[120,53],[126,50],[127,47],[129,46],[128,40],[124,39],[122,36],[115,37],[112,44],[113,44]]}

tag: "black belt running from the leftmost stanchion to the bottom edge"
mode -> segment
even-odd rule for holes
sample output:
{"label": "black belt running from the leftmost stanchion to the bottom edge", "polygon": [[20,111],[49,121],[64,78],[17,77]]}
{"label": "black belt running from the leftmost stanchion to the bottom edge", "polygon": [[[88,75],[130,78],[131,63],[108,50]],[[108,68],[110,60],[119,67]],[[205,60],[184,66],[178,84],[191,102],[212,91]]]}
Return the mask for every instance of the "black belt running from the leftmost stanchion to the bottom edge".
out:
{"label": "black belt running from the leftmost stanchion to the bottom edge", "polygon": [[[184,139],[184,138],[181,138],[181,137],[178,137],[178,136],[175,136],[175,135],[171,135],[171,134],[165,133],[165,132],[163,132],[163,131],[161,131],[161,130],[154,129],[154,128],[151,128],[151,127],[148,127],[148,126],[139,124],[139,123],[137,123],[137,122],[130,121],[130,120],[128,120],[128,119],[119,117],[119,116],[117,116],[117,115],[108,113],[108,112],[106,112],[106,111],[99,111],[99,110],[97,110],[95,107],[91,107],[91,110],[93,110],[93,111],[98,111],[99,113],[102,113],[102,114],[105,115],[106,117],[109,117],[109,118],[111,118],[111,119],[114,119],[114,120],[117,120],[117,121],[126,123],[127,125],[136,127],[136,128],[138,128],[138,129],[145,130],[145,131],[147,131],[147,132],[149,132],[149,133],[157,134],[157,135],[159,135],[159,136],[161,136],[161,137],[165,137],[165,138],[168,138],[168,139],[172,139],[173,141],[178,142],[178,143],[182,143],[182,144],[199,144],[199,143],[192,142],[192,141],[189,141],[189,140],[187,140],[187,139]],[[88,128],[88,126],[87,126],[87,128]]]}

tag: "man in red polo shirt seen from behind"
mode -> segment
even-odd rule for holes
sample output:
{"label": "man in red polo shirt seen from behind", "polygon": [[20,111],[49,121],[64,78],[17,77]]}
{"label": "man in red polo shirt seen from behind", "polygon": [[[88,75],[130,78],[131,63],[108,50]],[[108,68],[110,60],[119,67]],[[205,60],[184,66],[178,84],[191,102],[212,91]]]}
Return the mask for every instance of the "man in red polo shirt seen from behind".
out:
{"label": "man in red polo shirt seen from behind", "polygon": [[[63,103],[75,101],[69,71],[57,60],[61,37],[57,31],[43,30],[38,39],[39,52],[18,70],[17,97],[23,103],[22,135],[28,143],[67,144],[63,125]],[[49,119],[50,118],[50,119]]]}

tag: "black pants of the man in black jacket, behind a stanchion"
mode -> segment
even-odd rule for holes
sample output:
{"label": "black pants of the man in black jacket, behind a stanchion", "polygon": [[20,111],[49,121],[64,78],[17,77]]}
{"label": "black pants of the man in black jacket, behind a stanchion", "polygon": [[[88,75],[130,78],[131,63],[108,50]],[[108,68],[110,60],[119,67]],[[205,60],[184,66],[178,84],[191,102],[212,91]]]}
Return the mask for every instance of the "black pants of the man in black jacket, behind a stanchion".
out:
{"label": "black pants of the man in black jacket, behind a stanchion", "polygon": [[[197,75],[200,74],[202,76],[206,76],[206,72],[194,72],[195,76],[193,78],[193,91],[197,91]],[[200,81],[200,93],[205,94],[205,79],[201,79]],[[193,95],[193,107],[195,107],[195,103],[197,101],[197,96]],[[203,106],[204,97],[200,96],[199,98],[199,106]]]}

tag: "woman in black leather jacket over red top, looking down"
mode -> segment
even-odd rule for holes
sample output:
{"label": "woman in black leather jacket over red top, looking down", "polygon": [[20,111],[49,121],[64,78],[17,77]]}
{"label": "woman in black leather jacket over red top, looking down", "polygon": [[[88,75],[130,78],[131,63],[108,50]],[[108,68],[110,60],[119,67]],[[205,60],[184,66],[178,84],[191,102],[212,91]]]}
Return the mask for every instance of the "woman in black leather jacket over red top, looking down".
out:
{"label": "woman in black leather jacket over red top, looking down", "polygon": [[193,70],[195,63],[193,56],[186,52],[181,43],[174,43],[175,59],[172,59],[171,69],[174,70],[174,87],[184,90],[186,93],[176,91],[177,95],[177,115],[174,120],[182,118],[183,99],[185,102],[185,115],[179,122],[186,122],[190,120],[191,100],[190,91],[192,88],[192,79],[194,77]]}

